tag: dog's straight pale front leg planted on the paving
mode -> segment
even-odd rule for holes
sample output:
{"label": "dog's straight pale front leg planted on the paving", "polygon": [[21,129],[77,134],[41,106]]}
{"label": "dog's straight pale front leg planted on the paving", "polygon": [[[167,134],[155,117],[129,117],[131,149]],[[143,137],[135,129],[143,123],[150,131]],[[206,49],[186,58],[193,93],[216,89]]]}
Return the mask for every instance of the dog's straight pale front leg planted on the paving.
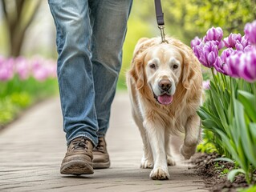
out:
{"label": "dog's straight pale front leg planted on the paving", "polygon": [[154,159],[154,167],[149,176],[152,179],[169,179],[165,154],[165,128],[161,127],[161,123],[152,121],[145,121],[144,127]]}

